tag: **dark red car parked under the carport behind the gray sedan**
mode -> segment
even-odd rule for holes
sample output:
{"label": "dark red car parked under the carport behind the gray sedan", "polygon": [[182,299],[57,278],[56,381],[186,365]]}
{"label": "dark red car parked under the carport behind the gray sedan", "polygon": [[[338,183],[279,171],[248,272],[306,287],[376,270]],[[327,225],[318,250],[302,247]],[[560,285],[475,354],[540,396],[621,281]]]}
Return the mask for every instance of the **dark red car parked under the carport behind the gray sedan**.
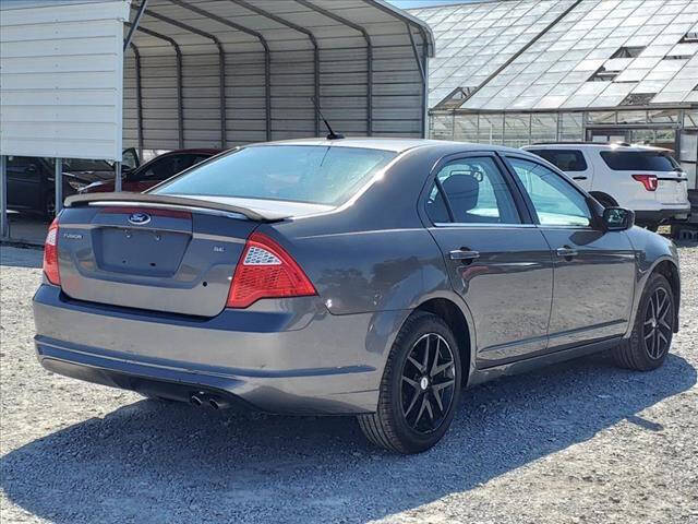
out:
{"label": "dark red car parked under the carport behind the gray sedan", "polygon": [[[121,188],[123,191],[140,193],[220,152],[221,150],[170,151],[124,172]],[[81,193],[98,193],[113,189],[113,180],[105,180],[91,183]]]}

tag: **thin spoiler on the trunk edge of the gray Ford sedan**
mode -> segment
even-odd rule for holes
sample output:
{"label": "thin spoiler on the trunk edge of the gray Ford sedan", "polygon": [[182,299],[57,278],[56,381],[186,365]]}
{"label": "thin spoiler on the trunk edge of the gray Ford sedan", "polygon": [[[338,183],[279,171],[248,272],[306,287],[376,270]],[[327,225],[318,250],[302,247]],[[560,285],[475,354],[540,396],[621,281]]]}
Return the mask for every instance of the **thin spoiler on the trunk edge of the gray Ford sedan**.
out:
{"label": "thin spoiler on the trunk edge of the gray Ford sedan", "polygon": [[81,207],[84,205],[105,206],[143,206],[143,207],[166,207],[185,211],[217,212],[221,214],[241,215],[244,218],[255,222],[276,222],[287,218],[274,212],[260,212],[242,207],[239,205],[224,204],[210,200],[189,199],[185,196],[170,196],[167,194],[152,193],[88,193],[74,194],[65,199],[65,207]]}

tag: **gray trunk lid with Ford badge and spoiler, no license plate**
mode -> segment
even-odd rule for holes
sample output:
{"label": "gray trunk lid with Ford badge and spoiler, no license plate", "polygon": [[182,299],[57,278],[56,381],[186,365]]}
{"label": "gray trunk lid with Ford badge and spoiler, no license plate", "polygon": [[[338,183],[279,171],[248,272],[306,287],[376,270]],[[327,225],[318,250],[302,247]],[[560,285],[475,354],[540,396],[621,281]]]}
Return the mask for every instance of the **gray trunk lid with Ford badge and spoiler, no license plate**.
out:
{"label": "gray trunk lid with Ford badge and spoiler, no license plate", "polygon": [[214,317],[246,238],[285,216],[178,196],[72,196],[59,224],[61,287],[79,300]]}

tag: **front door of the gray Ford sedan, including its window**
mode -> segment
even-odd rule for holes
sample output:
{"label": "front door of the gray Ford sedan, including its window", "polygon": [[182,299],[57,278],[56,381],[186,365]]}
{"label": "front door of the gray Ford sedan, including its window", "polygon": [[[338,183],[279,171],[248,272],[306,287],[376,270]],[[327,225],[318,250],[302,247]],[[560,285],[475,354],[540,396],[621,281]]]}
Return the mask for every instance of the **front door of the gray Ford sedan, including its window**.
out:
{"label": "front door of the gray Ford sedan, including its window", "polygon": [[635,291],[626,233],[594,228],[585,194],[563,176],[524,157],[507,159],[554,259],[551,349],[624,334]]}

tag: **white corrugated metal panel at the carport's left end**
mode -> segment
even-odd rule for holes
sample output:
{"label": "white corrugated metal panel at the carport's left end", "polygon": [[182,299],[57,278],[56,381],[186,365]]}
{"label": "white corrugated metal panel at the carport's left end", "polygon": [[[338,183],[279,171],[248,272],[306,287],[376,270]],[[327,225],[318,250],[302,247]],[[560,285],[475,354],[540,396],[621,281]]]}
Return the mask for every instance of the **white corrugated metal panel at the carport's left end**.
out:
{"label": "white corrugated metal panel at the carport's left end", "polygon": [[0,9],[0,154],[120,159],[128,4]]}

